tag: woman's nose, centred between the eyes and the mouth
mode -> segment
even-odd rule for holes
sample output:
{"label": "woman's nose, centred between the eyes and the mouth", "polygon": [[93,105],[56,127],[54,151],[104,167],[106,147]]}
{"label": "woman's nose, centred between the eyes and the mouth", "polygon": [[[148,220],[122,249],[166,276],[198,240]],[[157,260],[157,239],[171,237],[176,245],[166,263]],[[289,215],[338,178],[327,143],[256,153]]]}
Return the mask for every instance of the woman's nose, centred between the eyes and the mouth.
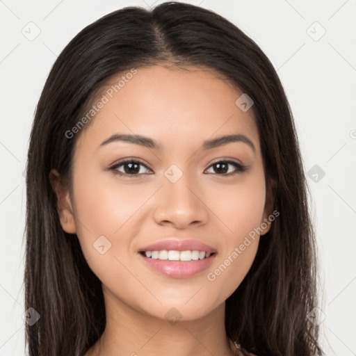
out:
{"label": "woman's nose, centred between the eyes and the mouth", "polygon": [[165,181],[156,197],[154,219],[159,225],[173,225],[185,229],[189,225],[207,223],[208,207],[202,189],[193,186],[188,175],[172,183]]}

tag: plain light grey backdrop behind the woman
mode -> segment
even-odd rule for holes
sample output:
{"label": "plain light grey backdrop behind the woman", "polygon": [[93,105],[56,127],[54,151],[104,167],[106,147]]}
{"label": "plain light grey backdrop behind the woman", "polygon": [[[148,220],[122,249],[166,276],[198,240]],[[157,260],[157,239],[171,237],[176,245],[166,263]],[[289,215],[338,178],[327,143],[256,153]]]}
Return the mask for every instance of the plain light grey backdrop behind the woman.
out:
{"label": "plain light grey backdrop behind the woman", "polygon": [[[161,2],[0,0],[0,356],[24,355],[23,172],[51,65],[76,33],[102,15]],[[321,260],[321,343],[327,355],[356,355],[356,1],[186,2],[236,24],[282,80],[305,171],[318,165],[325,172],[316,173],[317,181],[314,171],[308,177]],[[36,31],[38,37],[29,38]]]}

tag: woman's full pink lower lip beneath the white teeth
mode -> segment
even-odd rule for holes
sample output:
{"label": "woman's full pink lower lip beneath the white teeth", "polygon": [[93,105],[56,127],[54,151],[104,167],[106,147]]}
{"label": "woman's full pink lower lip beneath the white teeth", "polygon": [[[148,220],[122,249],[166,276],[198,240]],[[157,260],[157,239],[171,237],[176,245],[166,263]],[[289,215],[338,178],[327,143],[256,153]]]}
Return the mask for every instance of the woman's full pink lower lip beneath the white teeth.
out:
{"label": "woman's full pink lower lip beneath the white teeth", "polygon": [[197,259],[196,261],[169,261],[162,259],[151,259],[140,254],[140,258],[153,270],[162,275],[173,278],[193,277],[209,268],[216,257],[216,253],[211,254],[207,259]]}

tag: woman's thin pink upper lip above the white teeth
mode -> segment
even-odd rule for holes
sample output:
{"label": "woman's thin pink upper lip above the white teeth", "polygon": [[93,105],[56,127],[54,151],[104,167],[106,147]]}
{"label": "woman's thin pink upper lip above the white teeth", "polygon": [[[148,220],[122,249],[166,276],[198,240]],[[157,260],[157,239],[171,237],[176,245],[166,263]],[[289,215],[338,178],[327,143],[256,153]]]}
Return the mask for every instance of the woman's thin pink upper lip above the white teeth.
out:
{"label": "woman's thin pink upper lip above the white teeth", "polygon": [[197,240],[164,240],[156,243],[152,243],[151,245],[145,246],[145,248],[141,248],[139,251],[160,251],[160,250],[175,250],[175,251],[187,251],[187,250],[197,250],[204,251],[207,253],[217,252],[215,248],[207,245],[206,243],[202,243]]}

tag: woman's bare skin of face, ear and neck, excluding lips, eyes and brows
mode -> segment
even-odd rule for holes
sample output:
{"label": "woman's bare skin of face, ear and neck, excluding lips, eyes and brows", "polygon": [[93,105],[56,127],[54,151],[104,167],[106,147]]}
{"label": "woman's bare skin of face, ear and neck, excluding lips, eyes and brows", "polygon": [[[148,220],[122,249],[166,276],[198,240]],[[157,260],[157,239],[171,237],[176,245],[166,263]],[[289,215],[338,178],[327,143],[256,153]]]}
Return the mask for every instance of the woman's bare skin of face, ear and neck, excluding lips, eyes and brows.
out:
{"label": "woman's bare skin of face, ear and neck, excluding lips, eyes and brows", "polygon": [[[271,213],[259,135],[252,110],[235,104],[241,91],[211,70],[186,68],[138,68],[104,105],[76,142],[72,193],[51,171],[60,223],[78,236],[102,281],[106,330],[86,356],[236,355],[225,332],[225,300],[248,273],[260,236],[216,280],[209,281],[207,273]],[[149,136],[162,149],[127,142],[100,147],[114,133]],[[232,133],[250,138],[256,152],[243,142],[200,149],[204,140]],[[140,165],[136,177],[108,170],[131,157],[148,168]],[[213,163],[227,158],[248,165],[248,171],[221,173]],[[163,175],[172,164],[183,173],[175,183]],[[261,235],[268,229],[270,224]],[[105,254],[92,246],[102,235],[111,242]],[[189,278],[145,266],[138,249],[169,236],[212,245],[218,250],[212,266]],[[172,307],[181,314],[173,325],[165,318]]]}

